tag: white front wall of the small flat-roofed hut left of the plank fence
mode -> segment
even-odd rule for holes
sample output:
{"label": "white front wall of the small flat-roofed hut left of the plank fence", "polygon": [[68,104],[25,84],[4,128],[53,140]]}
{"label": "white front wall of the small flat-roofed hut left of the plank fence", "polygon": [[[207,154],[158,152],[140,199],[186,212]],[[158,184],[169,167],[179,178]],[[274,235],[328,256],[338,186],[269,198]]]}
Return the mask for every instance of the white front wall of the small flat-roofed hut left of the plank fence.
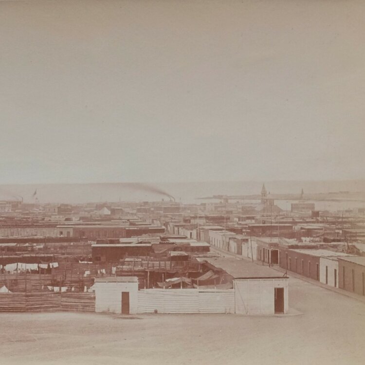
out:
{"label": "white front wall of the small flat-roofed hut left of the plank fence", "polygon": [[96,282],[95,288],[95,312],[122,312],[122,292],[129,292],[129,313],[137,313],[138,307],[138,283]]}

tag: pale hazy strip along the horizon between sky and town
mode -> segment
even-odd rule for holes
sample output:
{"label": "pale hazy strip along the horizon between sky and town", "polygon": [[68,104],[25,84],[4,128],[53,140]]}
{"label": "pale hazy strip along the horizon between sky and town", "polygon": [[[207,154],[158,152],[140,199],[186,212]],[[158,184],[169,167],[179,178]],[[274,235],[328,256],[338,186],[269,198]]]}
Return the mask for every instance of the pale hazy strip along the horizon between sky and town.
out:
{"label": "pale hazy strip along the horizon between sky and town", "polygon": [[[260,194],[262,183],[273,194],[365,192],[365,180],[347,181],[256,181],[188,183],[70,183],[0,185],[0,200],[23,198],[24,202],[85,203],[112,201],[169,201],[168,195],[182,203],[200,203],[196,198],[213,195]],[[362,204],[361,204],[362,206]]]}

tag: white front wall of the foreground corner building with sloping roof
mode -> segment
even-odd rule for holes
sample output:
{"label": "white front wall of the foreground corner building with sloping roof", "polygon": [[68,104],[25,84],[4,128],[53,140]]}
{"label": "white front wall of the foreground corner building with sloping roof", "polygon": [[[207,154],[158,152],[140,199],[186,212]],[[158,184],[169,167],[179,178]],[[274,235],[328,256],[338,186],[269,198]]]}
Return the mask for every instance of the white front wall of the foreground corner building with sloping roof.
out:
{"label": "white front wall of the foreground corner building with sloping roof", "polygon": [[236,279],[236,313],[274,314],[274,288],[284,288],[284,313],[288,312],[288,279]]}

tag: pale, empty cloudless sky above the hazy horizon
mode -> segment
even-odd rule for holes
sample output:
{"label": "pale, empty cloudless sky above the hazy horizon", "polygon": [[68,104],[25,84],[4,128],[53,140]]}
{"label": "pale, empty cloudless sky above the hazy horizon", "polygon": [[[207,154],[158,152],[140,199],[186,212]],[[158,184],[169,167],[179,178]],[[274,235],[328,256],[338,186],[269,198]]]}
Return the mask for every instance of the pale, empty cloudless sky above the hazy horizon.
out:
{"label": "pale, empty cloudless sky above the hazy horizon", "polygon": [[364,179],[365,2],[0,1],[0,183]]}

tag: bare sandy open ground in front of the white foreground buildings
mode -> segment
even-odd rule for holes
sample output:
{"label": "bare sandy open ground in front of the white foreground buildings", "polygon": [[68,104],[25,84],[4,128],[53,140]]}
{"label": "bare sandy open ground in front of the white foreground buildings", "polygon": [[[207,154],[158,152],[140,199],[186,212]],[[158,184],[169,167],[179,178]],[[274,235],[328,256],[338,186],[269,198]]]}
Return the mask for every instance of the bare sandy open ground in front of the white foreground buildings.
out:
{"label": "bare sandy open ground in front of the white foreground buildings", "polygon": [[365,304],[290,278],[291,315],[0,314],[0,364],[365,364]]}

